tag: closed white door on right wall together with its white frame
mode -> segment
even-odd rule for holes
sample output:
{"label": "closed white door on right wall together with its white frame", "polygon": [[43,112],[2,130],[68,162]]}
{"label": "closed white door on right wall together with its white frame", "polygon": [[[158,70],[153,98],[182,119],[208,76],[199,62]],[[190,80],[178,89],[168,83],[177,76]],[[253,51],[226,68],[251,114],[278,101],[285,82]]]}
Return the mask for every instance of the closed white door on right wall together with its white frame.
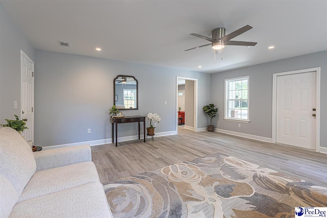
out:
{"label": "closed white door on right wall together with its white frame", "polygon": [[320,67],[273,74],[272,142],[319,152]]}

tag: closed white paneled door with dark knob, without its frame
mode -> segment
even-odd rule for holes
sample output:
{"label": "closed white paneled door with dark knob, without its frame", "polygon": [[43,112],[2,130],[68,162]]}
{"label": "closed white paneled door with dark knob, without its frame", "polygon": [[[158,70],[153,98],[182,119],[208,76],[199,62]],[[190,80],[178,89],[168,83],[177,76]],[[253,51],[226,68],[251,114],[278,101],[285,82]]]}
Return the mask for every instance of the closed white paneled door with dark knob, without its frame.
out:
{"label": "closed white paneled door with dark knob, without its frame", "polygon": [[276,141],[316,147],[316,73],[277,77]]}

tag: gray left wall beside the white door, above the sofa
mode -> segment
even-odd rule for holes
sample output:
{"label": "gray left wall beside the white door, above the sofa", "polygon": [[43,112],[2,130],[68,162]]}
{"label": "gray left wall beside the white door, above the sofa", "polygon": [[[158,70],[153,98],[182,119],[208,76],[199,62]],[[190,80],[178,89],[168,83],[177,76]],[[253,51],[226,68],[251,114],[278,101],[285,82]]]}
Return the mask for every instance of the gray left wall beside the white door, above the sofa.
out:
{"label": "gray left wall beside the white door, above the sofa", "polygon": [[0,124],[20,117],[20,50],[34,60],[33,47],[0,4]]}

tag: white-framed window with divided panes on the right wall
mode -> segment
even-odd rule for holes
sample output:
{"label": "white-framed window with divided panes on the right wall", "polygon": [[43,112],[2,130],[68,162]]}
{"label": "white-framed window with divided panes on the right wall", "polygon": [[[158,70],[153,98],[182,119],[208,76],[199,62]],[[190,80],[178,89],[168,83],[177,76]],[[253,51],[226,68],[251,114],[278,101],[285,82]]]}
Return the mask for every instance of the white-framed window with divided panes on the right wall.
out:
{"label": "white-framed window with divided panes on the right wall", "polygon": [[249,77],[225,80],[225,120],[249,122]]}

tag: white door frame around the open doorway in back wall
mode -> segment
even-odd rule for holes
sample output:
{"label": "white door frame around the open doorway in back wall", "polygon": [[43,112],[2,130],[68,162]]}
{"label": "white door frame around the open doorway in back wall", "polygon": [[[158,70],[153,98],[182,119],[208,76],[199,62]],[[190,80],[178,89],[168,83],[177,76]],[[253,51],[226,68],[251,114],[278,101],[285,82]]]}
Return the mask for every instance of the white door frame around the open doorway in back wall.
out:
{"label": "white door frame around the open doorway in back wall", "polygon": [[193,117],[193,131],[198,131],[198,79],[187,77],[176,77],[176,134],[178,134],[178,80],[192,80],[194,81],[194,117]]}

